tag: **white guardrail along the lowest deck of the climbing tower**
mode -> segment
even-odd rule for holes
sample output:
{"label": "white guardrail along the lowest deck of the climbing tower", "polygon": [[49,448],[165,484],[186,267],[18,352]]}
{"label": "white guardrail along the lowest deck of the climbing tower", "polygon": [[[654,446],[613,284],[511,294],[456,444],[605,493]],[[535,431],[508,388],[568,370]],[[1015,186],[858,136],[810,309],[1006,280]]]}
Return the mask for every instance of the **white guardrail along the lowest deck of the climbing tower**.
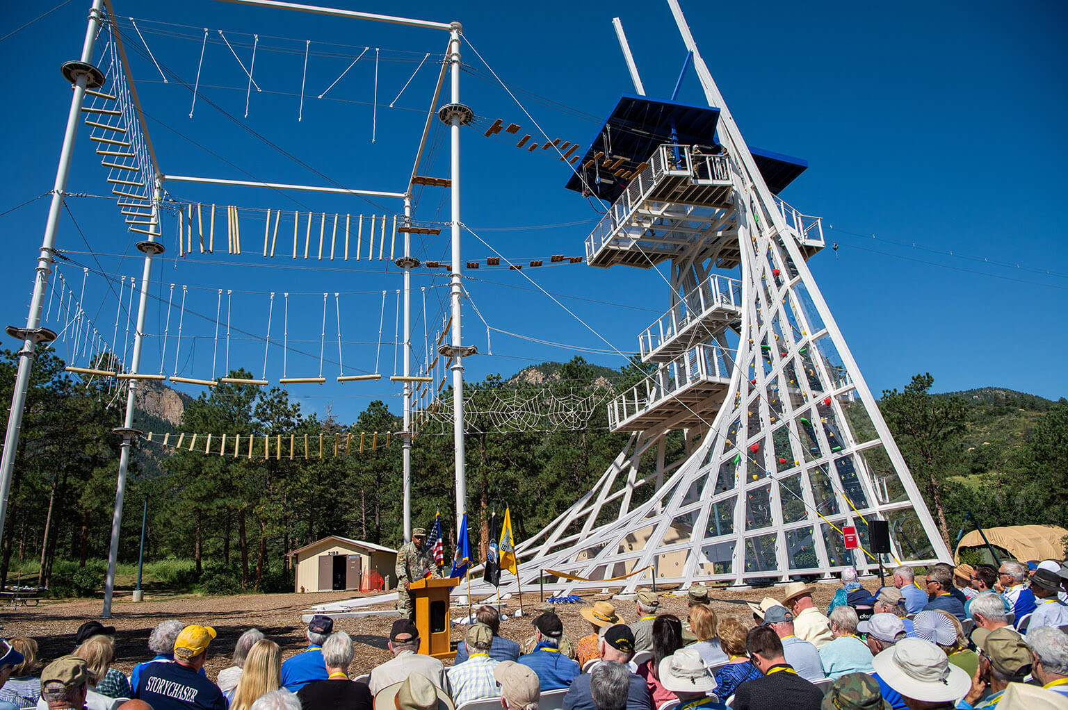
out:
{"label": "white guardrail along the lowest deck of the climbing tower", "polygon": [[[609,427],[615,428],[634,416],[670,400],[679,390],[698,380],[721,380],[728,384],[734,353],[718,345],[698,345],[663,363],[657,370],[609,403]],[[679,404],[679,407],[682,405]]]}

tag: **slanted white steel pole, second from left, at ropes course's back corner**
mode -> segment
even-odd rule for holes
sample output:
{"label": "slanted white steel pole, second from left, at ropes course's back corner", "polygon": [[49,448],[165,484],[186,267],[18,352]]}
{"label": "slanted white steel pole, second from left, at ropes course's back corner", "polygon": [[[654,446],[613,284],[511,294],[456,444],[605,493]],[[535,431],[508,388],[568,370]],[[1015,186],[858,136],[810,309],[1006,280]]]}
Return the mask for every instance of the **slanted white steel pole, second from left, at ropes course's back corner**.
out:
{"label": "slanted white steel pole, second from left, at ropes course's back corner", "polygon": [[[160,228],[159,202],[162,196],[163,186],[159,178],[156,179],[156,188],[152,200],[152,214],[155,228]],[[148,232],[153,232],[152,228]],[[152,259],[157,253],[162,251],[157,246],[156,237],[158,232],[148,235],[147,243],[152,247],[144,247],[144,267],[141,271],[141,298],[137,309],[137,328],[134,331],[134,352],[130,356],[129,373],[137,375],[141,366],[141,345],[144,342],[144,318],[148,310],[148,284],[152,281]],[[145,242],[138,244],[142,248]],[[123,498],[126,495],[126,471],[130,462],[130,446],[132,445],[134,432],[134,400],[137,394],[137,379],[128,380],[126,390],[126,419],[123,422],[122,435],[123,446],[119,456],[119,482],[115,485],[115,511],[111,518],[111,547],[108,550],[108,575],[104,583],[104,611],[100,618],[111,618],[111,597],[115,590],[115,565],[119,562],[119,536],[123,522]]]}

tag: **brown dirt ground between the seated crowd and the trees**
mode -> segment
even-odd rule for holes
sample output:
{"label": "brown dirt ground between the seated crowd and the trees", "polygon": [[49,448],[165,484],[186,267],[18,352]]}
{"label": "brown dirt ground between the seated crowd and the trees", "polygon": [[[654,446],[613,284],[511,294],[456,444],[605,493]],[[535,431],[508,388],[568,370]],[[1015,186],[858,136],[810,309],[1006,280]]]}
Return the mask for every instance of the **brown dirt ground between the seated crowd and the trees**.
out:
{"label": "brown dirt ground between the seated crowd and the trees", "polygon": [[[868,589],[875,590],[879,580],[865,580]],[[814,599],[826,608],[837,585],[817,585]],[[745,601],[760,601],[765,596],[781,598],[782,590],[770,589],[713,589],[712,609],[718,615],[736,616],[747,624],[752,620]],[[200,597],[192,595],[146,595],[145,600],[135,603],[128,596],[116,597],[112,605],[112,618],[108,626],[115,627],[117,658],[115,667],[129,675],[134,665],[153,657],[148,650],[148,633],[163,619],[176,618],[186,624],[211,626],[218,637],[208,651],[206,670],[214,679],[222,668],[231,665],[230,654],[237,637],[251,627],[256,627],[282,647],[282,658],[288,658],[304,647],[304,624],[300,620],[309,606],[351,599],[352,593],[332,591],[320,594],[282,595],[236,595],[230,597]],[[579,610],[594,601],[610,599],[607,594],[583,594],[581,604],[557,604],[556,610],[564,622],[564,633],[577,642],[590,633],[590,625],[579,615]],[[686,597],[665,594],[660,604],[661,613],[676,614],[686,619]],[[540,603],[537,593],[523,594],[525,617],[514,618],[519,601],[514,596],[503,608],[509,618],[501,622],[501,634],[523,643],[531,634],[531,619]],[[616,610],[625,620],[634,620],[634,604],[617,601]],[[89,619],[98,618],[100,600],[42,601],[37,606],[0,608],[2,634],[6,638],[31,636],[36,638],[43,662],[69,653],[75,646],[74,633]],[[387,609],[388,606],[379,606]],[[466,616],[467,608],[452,610],[452,618]],[[390,658],[386,646],[390,626],[398,618],[394,615],[362,618],[339,618],[334,628],[347,632],[356,642],[356,659],[351,675],[368,673],[379,663]],[[466,627],[456,626],[452,631],[453,642],[464,638]],[[446,661],[446,665],[447,665]]]}

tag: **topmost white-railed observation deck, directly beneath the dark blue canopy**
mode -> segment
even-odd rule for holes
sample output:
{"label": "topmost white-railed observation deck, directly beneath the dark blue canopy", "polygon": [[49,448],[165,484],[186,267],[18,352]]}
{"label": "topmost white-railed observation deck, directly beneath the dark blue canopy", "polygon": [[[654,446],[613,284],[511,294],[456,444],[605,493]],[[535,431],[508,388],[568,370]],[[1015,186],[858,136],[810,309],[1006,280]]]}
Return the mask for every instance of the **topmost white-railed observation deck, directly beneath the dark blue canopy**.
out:
{"label": "topmost white-railed observation deck, directly beneath the dark blue canopy", "polygon": [[586,237],[586,263],[647,269],[733,232],[732,189],[726,155],[661,144]]}

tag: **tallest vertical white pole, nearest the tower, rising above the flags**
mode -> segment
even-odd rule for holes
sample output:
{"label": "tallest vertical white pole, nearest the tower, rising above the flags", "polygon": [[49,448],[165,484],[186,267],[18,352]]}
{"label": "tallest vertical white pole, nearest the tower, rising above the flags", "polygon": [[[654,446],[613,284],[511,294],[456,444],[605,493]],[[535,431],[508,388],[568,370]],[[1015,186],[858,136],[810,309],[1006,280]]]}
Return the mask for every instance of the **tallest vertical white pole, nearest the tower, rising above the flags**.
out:
{"label": "tallest vertical white pole, nearest the tower, rising above the flags", "polygon": [[[460,102],[460,26],[453,22],[449,42],[450,81],[452,84],[451,100],[454,106]],[[460,299],[464,288],[460,286],[460,122],[461,116],[453,112],[450,120],[450,138],[452,139],[452,156],[450,176],[452,177],[452,311],[453,333],[453,441],[456,456],[456,524],[459,525],[467,510],[467,475],[464,454],[464,331],[460,327]]]}

